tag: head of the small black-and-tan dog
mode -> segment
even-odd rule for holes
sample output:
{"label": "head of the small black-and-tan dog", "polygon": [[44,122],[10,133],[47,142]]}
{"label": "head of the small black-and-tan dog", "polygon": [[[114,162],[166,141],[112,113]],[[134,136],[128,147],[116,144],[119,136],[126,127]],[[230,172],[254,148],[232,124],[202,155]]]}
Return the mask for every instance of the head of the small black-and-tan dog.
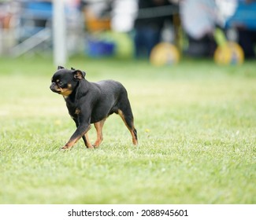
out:
{"label": "head of the small black-and-tan dog", "polygon": [[58,66],[58,71],[51,79],[50,90],[63,96],[69,96],[76,88],[77,83],[84,79],[85,72],[71,68],[71,70]]}

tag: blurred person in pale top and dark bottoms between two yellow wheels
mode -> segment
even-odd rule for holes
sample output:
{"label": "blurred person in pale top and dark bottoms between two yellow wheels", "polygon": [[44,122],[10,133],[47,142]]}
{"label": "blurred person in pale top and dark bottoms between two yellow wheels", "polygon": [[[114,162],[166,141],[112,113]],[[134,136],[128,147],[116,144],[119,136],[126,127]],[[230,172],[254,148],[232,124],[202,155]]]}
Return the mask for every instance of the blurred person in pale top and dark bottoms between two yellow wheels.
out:
{"label": "blurred person in pale top and dark bottoms between two yellow wheels", "polygon": [[180,1],[180,19],[188,38],[187,55],[212,57],[217,47],[213,33],[220,23],[215,1]]}

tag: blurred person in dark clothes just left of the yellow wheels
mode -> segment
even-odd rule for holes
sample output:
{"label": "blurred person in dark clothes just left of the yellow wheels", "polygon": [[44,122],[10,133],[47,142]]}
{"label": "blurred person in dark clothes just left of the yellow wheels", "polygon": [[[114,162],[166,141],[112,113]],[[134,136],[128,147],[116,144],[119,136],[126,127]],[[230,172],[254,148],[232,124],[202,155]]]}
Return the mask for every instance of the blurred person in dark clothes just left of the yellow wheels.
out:
{"label": "blurred person in dark clothes just left of the yellow wheels", "polygon": [[168,0],[139,0],[138,5],[139,12],[135,19],[135,57],[149,57],[153,47],[161,41],[165,21],[173,19],[172,15],[161,14],[161,9],[172,3]]}

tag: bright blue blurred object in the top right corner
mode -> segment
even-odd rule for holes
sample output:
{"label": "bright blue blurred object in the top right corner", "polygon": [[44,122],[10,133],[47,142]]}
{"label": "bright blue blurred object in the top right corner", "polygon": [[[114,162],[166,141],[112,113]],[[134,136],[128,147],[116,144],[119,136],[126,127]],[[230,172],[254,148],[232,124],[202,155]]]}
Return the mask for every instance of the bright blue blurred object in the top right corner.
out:
{"label": "bright blue blurred object in the top right corner", "polygon": [[256,2],[239,1],[236,12],[226,21],[225,26],[256,30]]}

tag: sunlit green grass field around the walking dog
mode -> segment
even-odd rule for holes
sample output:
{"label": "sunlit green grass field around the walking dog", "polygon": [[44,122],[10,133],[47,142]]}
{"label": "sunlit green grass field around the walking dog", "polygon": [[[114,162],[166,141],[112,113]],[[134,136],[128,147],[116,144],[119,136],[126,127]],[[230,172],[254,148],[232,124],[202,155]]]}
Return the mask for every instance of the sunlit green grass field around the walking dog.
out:
{"label": "sunlit green grass field around the walking dog", "polygon": [[256,203],[254,62],[76,57],[67,67],[126,86],[139,146],[110,116],[100,148],[60,151],[75,125],[49,89],[50,58],[1,58],[0,203]]}

